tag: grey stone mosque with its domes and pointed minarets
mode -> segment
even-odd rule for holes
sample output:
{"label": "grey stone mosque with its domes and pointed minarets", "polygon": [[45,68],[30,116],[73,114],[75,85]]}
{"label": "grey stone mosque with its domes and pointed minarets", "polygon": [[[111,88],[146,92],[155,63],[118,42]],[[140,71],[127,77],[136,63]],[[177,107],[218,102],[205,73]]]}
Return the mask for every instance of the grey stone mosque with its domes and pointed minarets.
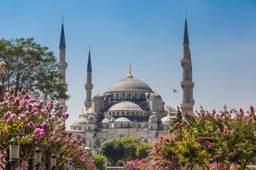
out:
{"label": "grey stone mosque with its domes and pointed minarets", "polygon": [[[65,37],[62,20],[61,39],[59,45],[58,69],[64,75],[67,69],[65,62]],[[180,85],[183,89],[183,101],[181,108],[187,112],[193,112],[195,100],[193,100],[192,61],[190,54],[187,20],[185,14],[185,28],[183,35],[183,58],[180,60],[183,68],[183,79]],[[120,136],[135,136],[141,142],[154,142],[162,134],[168,134],[169,123],[176,115],[176,110],[161,98],[157,91],[143,81],[136,79],[129,73],[125,79],[115,82],[103,94],[92,97],[92,66],[89,47],[87,63],[86,110],[81,112],[79,118],[70,126],[73,137],[84,139],[88,147],[100,148],[100,145],[108,139]],[[66,101],[60,100],[64,106],[63,112],[67,111]]]}

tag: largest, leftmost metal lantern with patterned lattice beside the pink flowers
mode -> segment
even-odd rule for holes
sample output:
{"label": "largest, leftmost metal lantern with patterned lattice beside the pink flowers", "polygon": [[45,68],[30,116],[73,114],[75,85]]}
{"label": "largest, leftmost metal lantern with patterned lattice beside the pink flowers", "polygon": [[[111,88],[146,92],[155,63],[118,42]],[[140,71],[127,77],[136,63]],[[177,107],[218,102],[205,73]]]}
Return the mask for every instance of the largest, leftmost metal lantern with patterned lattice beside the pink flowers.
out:
{"label": "largest, leftmost metal lantern with patterned lattice beside the pink flowers", "polygon": [[13,135],[10,143],[10,164],[12,164],[13,169],[15,170],[15,166],[20,163],[20,141],[17,139],[16,135]]}

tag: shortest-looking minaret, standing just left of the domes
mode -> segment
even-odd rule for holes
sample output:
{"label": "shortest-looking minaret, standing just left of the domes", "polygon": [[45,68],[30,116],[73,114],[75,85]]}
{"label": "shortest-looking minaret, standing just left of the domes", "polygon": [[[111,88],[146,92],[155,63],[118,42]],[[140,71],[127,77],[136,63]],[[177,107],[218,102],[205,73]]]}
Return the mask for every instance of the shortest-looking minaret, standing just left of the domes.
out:
{"label": "shortest-looking minaret, standing just left of the domes", "polygon": [[86,90],[86,100],[84,101],[85,110],[87,111],[89,108],[92,107],[92,64],[90,60],[90,44],[89,44],[89,57],[88,57],[88,63],[87,63],[87,80],[86,84],[84,85]]}

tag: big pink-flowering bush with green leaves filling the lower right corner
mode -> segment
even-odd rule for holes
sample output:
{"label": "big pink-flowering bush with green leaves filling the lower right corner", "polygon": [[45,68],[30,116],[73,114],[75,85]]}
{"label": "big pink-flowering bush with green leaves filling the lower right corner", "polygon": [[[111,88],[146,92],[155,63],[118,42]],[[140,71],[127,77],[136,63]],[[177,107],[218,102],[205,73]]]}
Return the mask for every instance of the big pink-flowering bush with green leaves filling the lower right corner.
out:
{"label": "big pink-flowering bush with green leaves filling the lower right corner", "polygon": [[[253,170],[249,160],[256,153],[256,116],[251,106],[244,113],[232,109],[216,114],[204,111],[185,113],[187,123],[176,124],[176,130],[167,136],[160,136],[153,143],[148,159],[156,169],[195,170]],[[231,116],[234,115],[234,117]],[[128,162],[127,170],[137,170]],[[137,165],[139,166],[139,165]]]}

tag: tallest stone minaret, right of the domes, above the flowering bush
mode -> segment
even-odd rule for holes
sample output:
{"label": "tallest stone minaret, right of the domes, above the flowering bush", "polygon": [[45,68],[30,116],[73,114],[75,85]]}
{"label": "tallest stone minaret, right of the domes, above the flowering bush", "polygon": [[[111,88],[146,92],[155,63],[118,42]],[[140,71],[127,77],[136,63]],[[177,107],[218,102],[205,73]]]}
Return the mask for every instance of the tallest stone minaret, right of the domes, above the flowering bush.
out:
{"label": "tallest stone minaret, right of the domes, above the flowering bush", "polygon": [[190,55],[189,33],[187,27],[186,13],[183,37],[183,59],[180,60],[180,63],[183,68],[183,81],[180,82],[182,88],[182,103],[180,104],[180,108],[185,108],[187,113],[192,113],[193,106],[195,104],[195,100],[193,100],[193,88],[195,83],[192,82],[192,61]]}

